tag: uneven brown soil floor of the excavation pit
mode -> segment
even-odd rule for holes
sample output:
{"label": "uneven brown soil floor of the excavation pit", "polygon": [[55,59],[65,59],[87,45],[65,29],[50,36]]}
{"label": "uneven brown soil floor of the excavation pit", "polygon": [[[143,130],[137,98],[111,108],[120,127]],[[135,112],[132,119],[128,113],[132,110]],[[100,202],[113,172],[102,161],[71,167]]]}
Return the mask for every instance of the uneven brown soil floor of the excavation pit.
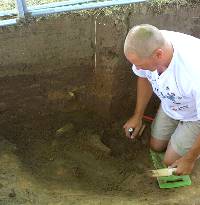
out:
{"label": "uneven brown soil floor of the excavation pit", "polygon": [[7,123],[1,122],[0,205],[200,204],[199,164],[188,187],[159,189],[146,175],[153,168],[149,126],[133,142],[122,122],[105,129],[88,113]]}

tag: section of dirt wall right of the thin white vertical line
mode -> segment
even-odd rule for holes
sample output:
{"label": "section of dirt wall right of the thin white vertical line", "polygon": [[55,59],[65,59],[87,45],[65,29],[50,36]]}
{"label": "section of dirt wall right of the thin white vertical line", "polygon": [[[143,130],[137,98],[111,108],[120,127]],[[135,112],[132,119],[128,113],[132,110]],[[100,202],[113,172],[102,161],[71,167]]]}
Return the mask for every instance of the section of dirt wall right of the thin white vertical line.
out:
{"label": "section of dirt wall right of the thin white vertical line", "polygon": [[[136,77],[131,65],[123,54],[123,43],[127,32],[134,25],[148,23],[160,29],[173,30],[200,37],[200,7],[165,5],[151,7],[135,4],[124,7],[112,15],[99,15],[97,18],[97,84],[98,103],[106,102],[109,114],[116,118],[130,116],[134,110],[136,97]],[[106,74],[105,74],[106,73]],[[105,91],[109,90],[109,94]],[[100,99],[100,100],[99,100]],[[147,113],[154,115],[158,99],[153,97]],[[97,108],[102,109],[100,106]]]}

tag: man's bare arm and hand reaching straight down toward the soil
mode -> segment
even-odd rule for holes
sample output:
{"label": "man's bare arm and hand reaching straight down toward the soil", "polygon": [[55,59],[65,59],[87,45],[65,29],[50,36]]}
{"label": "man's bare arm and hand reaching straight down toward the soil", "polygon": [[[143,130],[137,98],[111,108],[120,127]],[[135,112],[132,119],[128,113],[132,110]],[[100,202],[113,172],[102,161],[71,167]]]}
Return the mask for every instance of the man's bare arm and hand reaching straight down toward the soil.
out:
{"label": "man's bare arm and hand reaching straight down toward the soil", "polygon": [[130,137],[128,129],[135,128],[131,138],[134,138],[142,126],[142,117],[146,106],[152,96],[153,89],[147,78],[138,77],[137,80],[137,101],[133,116],[123,126],[126,136]]}

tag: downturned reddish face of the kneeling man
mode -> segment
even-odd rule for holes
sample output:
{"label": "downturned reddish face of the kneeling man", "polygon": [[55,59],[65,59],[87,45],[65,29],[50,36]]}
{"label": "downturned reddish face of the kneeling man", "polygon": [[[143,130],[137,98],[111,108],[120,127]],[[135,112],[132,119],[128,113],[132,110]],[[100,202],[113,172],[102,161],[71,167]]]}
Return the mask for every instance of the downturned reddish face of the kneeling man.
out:
{"label": "downturned reddish face of the kneeling man", "polygon": [[136,69],[138,69],[138,70],[142,69],[142,70],[154,71],[158,68],[158,62],[152,56],[148,57],[148,58],[141,59],[133,53],[127,53],[125,55],[126,55],[126,58],[128,59],[128,61],[130,63],[134,64]]}

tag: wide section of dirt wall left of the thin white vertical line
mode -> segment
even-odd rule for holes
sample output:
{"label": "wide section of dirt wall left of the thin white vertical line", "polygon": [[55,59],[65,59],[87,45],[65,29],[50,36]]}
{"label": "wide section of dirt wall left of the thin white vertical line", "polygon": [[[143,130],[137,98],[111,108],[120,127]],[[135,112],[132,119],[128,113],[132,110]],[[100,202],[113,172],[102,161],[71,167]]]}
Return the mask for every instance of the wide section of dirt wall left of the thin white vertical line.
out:
{"label": "wide section of dirt wall left of the thin white vertical line", "polygon": [[84,109],[94,67],[92,28],[92,17],[78,14],[1,28],[2,135],[18,137],[23,122]]}

